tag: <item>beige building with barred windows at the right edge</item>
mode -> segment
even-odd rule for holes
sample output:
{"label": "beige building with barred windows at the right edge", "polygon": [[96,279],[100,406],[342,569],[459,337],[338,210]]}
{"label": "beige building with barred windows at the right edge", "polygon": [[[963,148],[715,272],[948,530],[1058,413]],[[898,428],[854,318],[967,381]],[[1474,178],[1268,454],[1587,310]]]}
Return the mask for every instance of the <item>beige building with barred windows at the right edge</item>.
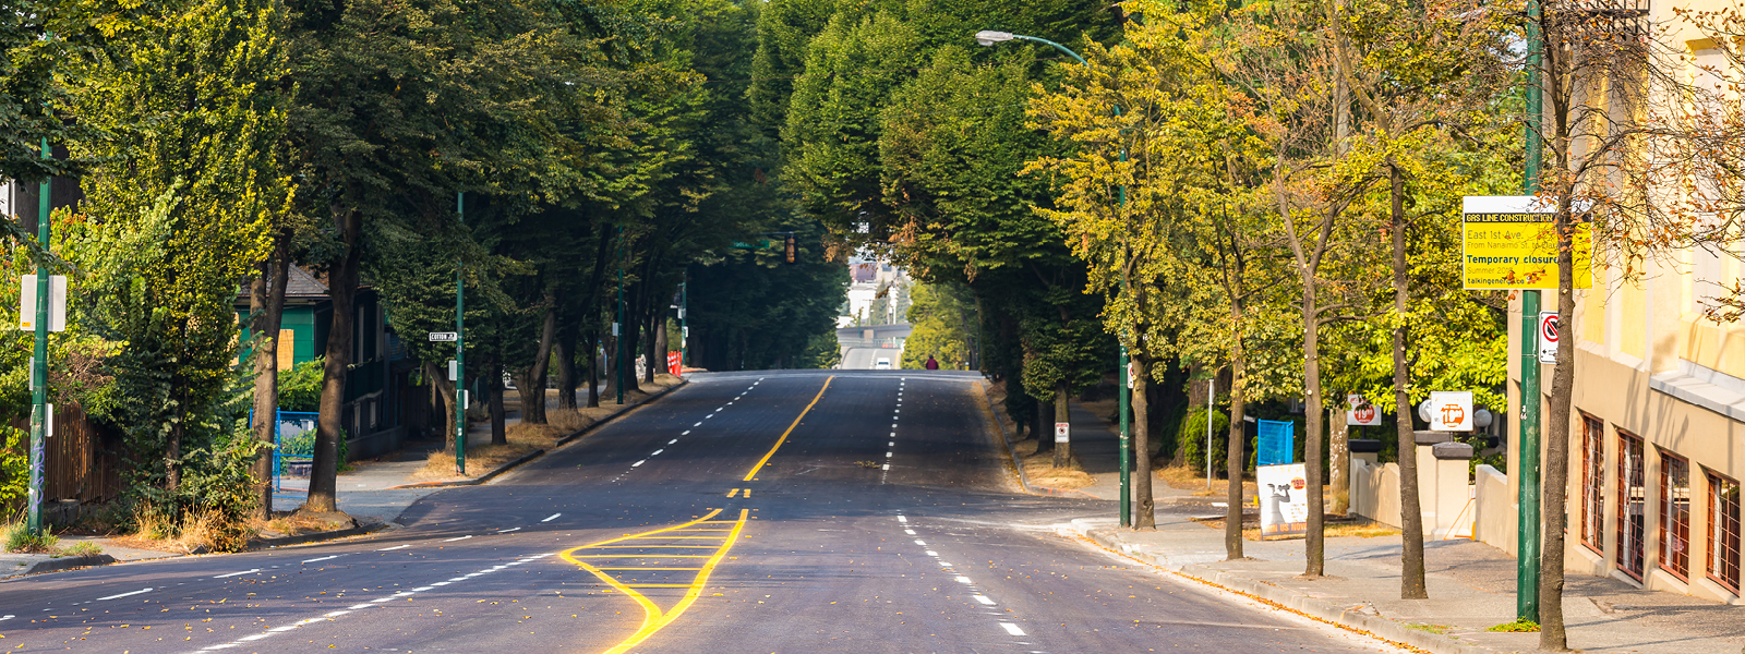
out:
{"label": "beige building with barred windows at the right edge", "polygon": [[[1680,5],[1721,9],[1710,0]],[[1670,26],[1673,10],[1656,3],[1651,19]],[[1701,66],[1728,66],[1694,30],[1668,35],[1672,45],[1691,56],[1686,73],[1693,80],[1705,75]],[[1745,326],[1703,317],[1705,302],[1740,281],[1742,272],[1742,262],[1731,256],[1684,251],[1651,262],[1635,283],[1621,279],[1618,270],[1595,270],[1593,290],[1576,291],[1574,324],[1562,330],[1562,347],[1576,349],[1569,570],[1745,603],[1740,600]],[[1557,309],[1555,293],[1543,296],[1546,310]],[[1509,328],[1516,344],[1509,358],[1513,422],[1520,415],[1520,300],[1511,303]],[[1551,366],[1543,364],[1546,412],[1550,389]],[[1518,490],[1515,436],[1511,426],[1511,494]],[[1490,535],[1487,541],[1513,544],[1513,534]]]}

